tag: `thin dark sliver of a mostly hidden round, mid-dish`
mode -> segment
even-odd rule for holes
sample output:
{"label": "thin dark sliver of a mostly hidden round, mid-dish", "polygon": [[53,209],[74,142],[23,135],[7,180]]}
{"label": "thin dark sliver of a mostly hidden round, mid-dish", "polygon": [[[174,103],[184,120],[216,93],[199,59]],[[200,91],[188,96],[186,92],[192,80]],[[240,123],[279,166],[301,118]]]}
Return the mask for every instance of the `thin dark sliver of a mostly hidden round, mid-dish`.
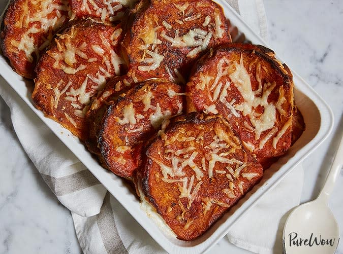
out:
{"label": "thin dark sliver of a mostly hidden round, mid-dish", "polygon": [[89,135],[85,140],[86,146],[91,153],[101,156],[98,147],[98,133],[106,108],[114,103],[121,93],[127,92],[135,84],[126,75],[115,77],[106,83],[105,88],[97,96],[91,99],[89,110],[86,113],[86,119],[89,122]]}

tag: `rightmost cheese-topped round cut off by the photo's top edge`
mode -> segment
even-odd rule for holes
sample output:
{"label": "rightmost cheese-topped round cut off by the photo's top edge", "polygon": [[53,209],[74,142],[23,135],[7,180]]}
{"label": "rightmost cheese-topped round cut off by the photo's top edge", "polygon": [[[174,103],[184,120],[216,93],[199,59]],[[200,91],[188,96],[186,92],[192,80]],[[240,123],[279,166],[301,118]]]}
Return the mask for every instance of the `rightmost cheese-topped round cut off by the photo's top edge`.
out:
{"label": "rightmost cheese-topped round cut off by the photo's top edge", "polygon": [[231,42],[222,8],[210,0],[142,1],[132,17],[122,49],[137,81],[184,83],[202,51]]}

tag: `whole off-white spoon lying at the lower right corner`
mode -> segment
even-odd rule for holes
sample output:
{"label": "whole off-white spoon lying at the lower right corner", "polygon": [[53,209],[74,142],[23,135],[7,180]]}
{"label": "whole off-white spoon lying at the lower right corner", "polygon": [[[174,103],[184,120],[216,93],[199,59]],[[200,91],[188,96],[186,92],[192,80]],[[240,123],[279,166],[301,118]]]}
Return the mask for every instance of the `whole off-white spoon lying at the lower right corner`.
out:
{"label": "whole off-white spoon lying at the lower right corner", "polygon": [[339,229],[328,207],[329,195],[343,166],[343,136],[325,185],[314,201],[296,207],[284,228],[284,251],[287,254],[330,254],[339,242]]}

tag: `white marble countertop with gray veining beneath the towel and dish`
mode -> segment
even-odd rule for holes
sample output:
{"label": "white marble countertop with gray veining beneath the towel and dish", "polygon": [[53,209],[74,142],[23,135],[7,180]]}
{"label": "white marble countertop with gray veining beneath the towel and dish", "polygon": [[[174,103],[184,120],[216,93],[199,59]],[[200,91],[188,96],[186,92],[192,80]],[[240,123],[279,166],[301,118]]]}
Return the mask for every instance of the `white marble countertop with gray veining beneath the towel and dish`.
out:
{"label": "white marble countertop with gray veining beneath the towel and dish", "polygon": [[[343,2],[265,0],[264,4],[270,47],[324,98],[335,117],[329,138],[303,162],[301,202],[306,202],[317,197],[343,131]],[[0,253],[81,253],[69,210],[25,155],[1,97],[0,144]],[[343,171],[329,202],[341,236],[342,180]],[[225,238],[209,252],[229,251],[251,253]],[[336,253],[343,253],[342,241]]]}

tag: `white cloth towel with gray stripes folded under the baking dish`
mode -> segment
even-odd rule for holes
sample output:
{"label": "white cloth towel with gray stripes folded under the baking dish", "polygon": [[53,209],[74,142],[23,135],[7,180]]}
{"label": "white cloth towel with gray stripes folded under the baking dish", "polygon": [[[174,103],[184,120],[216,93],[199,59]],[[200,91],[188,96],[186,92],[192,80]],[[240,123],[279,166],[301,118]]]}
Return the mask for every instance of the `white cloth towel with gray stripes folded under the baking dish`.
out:
{"label": "white cloth towel with gray stripes folded under the baking dish", "polygon": [[[227,1],[267,41],[262,0]],[[6,2],[1,0],[0,6]],[[2,78],[0,95],[11,109],[14,130],[28,157],[58,200],[71,210],[84,253],[164,252]],[[281,239],[280,220],[299,204],[302,178],[302,168],[294,169],[232,227],[227,239],[258,253],[271,253],[274,245],[281,251],[276,241]]]}

